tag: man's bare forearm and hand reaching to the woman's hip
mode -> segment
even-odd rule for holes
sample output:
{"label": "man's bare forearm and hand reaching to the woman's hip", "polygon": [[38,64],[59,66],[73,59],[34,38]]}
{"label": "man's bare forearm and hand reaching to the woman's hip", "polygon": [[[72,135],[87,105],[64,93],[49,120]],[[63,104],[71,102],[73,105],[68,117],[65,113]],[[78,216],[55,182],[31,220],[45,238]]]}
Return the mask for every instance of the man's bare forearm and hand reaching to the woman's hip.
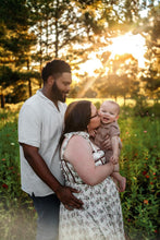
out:
{"label": "man's bare forearm and hand reaching to the woman's hip", "polygon": [[53,192],[57,194],[59,200],[64,205],[70,205],[74,208],[81,208],[83,202],[77,200],[72,192],[78,192],[75,189],[63,187],[60,182],[53,177],[45,160],[38,153],[38,147],[30,146],[27,144],[20,143],[23,147],[24,156],[30,167],[34,169],[36,175],[48,184]]}

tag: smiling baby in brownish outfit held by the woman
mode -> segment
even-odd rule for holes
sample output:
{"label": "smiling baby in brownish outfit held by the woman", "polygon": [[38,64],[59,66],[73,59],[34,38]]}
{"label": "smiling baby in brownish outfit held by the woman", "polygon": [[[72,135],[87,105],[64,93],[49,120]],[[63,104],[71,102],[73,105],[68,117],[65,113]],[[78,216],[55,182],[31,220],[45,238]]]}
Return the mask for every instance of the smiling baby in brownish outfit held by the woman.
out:
{"label": "smiling baby in brownish outfit held by the woman", "polygon": [[[119,172],[119,156],[122,148],[118,125],[119,113],[120,106],[115,101],[103,101],[99,109],[101,125],[91,139],[97,146],[104,151],[106,160],[111,160],[115,165],[112,177],[119,182],[119,191],[123,192],[125,190],[126,179]],[[104,149],[102,146],[107,135],[111,139],[112,149]]]}

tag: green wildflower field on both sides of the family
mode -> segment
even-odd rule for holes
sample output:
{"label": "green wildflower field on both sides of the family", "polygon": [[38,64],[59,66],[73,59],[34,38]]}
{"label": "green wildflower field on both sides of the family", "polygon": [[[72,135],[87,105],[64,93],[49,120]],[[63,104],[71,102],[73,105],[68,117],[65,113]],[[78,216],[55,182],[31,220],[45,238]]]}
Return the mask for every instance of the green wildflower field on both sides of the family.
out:
{"label": "green wildflower field on both sides of the family", "polygon": [[[73,99],[70,99],[70,101]],[[70,103],[67,100],[67,103]],[[99,106],[99,100],[94,100]],[[36,213],[21,191],[17,116],[22,104],[0,110],[0,240],[35,238]],[[158,240],[160,153],[159,106],[122,107],[119,124],[123,144],[121,193],[127,239]],[[138,115],[139,112],[139,115]]]}

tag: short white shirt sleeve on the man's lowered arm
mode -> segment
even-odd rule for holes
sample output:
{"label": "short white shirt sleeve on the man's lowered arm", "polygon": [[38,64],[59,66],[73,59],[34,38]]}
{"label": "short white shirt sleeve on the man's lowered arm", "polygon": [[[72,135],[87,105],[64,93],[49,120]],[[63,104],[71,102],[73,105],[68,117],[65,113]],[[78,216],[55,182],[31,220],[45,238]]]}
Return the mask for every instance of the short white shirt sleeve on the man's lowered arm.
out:
{"label": "short white shirt sleeve on the man's lowered arm", "polygon": [[19,115],[19,142],[40,146],[40,117],[29,105],[22,107]]}

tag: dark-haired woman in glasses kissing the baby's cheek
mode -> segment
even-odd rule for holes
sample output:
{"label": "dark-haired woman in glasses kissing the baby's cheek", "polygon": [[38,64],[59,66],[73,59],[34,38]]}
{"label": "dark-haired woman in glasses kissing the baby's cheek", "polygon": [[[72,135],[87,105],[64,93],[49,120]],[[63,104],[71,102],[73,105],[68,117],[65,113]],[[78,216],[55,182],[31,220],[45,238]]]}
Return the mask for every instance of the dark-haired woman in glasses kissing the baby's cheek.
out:
{"label": "dark-haired woman in glasses kissing the baby's cheek", "polygon": [[72,209],[61,204],[60,240],[124,239],[119,192],[110,177],[114,165],[106,164],[104,153],[89,140],[89,132],[99,124],[90,101],[69,105],[61,147],[62,172],[65,184],[79,191],[75,195],[84,205],[83,209]]}

